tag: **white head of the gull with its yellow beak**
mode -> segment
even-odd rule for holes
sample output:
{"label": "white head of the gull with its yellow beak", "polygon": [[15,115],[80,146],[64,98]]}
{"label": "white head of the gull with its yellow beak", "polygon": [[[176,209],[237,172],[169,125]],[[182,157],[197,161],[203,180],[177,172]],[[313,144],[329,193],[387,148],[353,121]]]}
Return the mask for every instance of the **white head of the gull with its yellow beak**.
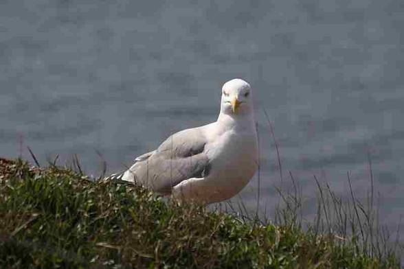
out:
{"label": "white head of the gull with its yellow beak", "polygon": [[237,116],[253,111],[251,87],[244,80],[235,78],[223,85],[221,98],[221,113]]}

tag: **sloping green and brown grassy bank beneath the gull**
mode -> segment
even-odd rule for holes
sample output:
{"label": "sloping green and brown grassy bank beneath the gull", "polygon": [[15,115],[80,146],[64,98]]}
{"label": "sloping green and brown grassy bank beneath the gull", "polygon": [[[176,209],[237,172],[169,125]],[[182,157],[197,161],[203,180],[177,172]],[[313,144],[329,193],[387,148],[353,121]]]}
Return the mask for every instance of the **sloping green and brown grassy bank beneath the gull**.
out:
{"label": "sloping green and brown grassy bank beneath the gull", "polygon": [[298,200],[283,197],[282,221],[262,224],[66,167],[0,159],[0,268],[400,267],[390,250],[375,255],[355,236],[303,231]]}

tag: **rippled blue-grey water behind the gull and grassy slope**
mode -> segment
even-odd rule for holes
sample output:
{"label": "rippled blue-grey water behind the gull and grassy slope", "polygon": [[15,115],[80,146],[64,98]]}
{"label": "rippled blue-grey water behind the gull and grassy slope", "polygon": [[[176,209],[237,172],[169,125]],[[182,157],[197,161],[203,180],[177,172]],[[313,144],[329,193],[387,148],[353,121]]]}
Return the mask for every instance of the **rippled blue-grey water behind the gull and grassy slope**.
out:
{"label": "rippled blue-grey water behind the gull and grassy slope", "polygon": [[[280,185],[264,110],[306,207],[313,175],[404,215],[404,2],[0,1],[0,154],[84,169],[130,165],[172,132],[216,120],[221,86],[255,91],[261,204]],[[258,176],[243,191],[254,208]],[[286,183],[284,183],[286,184]],[[404,225],[401,224],[401,231]]]}

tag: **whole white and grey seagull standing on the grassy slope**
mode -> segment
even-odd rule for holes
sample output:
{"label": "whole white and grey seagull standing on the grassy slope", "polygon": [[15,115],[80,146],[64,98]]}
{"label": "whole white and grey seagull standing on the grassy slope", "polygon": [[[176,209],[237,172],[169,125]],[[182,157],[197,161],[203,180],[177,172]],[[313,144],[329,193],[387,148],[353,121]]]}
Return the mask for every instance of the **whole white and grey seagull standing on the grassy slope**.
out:
{"label": "whole white and grey seagull standing on the grassy slope", "polygon": [[253,93],[238,78],[223,84],[221,93],[216,121],[172,134],[157,150],[138,156],[131,168],[106,180],[124,180],[199,204],[238,194],[258,168]]}

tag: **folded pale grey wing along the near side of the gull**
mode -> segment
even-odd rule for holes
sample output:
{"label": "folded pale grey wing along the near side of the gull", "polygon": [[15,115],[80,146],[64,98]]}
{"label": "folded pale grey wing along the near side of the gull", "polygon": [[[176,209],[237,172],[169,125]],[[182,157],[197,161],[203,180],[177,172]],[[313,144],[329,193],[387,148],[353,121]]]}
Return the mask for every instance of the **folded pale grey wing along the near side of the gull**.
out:
{"label": "folded pale grey wing along the near side of the gull", "polygon": [[205,175],[209,159],[203,152],[206,139],[200,128],[172,134],[157,150],[139,156],[128,172],[136,183],[161,194],[170,194],[181,181]]}

